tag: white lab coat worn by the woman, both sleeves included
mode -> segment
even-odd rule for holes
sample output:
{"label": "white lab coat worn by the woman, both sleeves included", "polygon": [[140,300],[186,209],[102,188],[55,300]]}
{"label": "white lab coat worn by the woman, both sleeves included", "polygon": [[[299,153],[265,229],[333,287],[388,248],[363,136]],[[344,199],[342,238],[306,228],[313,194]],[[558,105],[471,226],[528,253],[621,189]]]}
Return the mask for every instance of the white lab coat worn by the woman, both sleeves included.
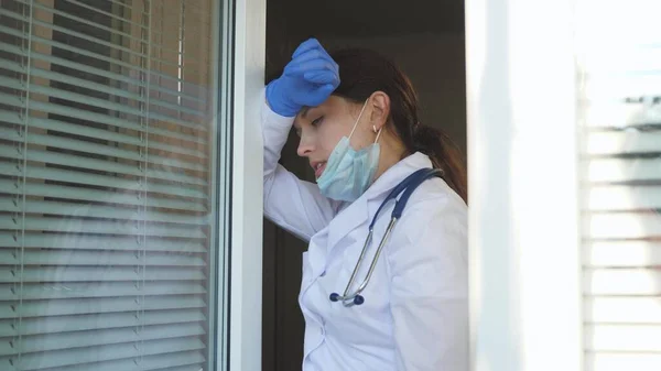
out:
{"label": "white lab coat worn by the woman, both sleeves included", "polygon": [[[465,203],[440,178],[423,183],[381,253],[362,294],[365,304],[333,303],[328,296],[344,292],[384,197],[407,175],[432,164],[415,153],[353,204],[334,201],[316,184],[278,164],[292,121],[263,105],[264,215],[310,241],[299,295],[305,318],[303,370],[467,371]],[[392,207],[379,216],[356,285],[365,277]]]}

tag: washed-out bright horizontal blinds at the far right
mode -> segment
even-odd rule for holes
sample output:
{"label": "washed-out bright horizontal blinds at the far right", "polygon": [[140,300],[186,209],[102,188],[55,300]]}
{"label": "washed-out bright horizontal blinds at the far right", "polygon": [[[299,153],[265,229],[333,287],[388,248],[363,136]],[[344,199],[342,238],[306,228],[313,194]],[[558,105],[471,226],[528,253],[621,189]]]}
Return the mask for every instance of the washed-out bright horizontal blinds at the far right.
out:
{"label": "washed-out bright horizontal blinds at the far right", "polygon": [[661,370],[661,3],[578,4],[585,369]]}

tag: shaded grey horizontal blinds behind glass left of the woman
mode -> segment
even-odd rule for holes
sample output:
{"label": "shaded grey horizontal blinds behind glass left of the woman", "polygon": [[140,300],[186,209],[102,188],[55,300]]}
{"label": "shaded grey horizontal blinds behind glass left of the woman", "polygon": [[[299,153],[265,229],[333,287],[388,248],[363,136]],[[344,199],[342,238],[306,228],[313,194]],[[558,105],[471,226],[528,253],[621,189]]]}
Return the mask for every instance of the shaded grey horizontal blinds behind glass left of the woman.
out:
{"label": "shaded grey horizontal blinds behind glass left of the woman", "polygon": [[213,1],[0,6],[0,370],[209,364]]}

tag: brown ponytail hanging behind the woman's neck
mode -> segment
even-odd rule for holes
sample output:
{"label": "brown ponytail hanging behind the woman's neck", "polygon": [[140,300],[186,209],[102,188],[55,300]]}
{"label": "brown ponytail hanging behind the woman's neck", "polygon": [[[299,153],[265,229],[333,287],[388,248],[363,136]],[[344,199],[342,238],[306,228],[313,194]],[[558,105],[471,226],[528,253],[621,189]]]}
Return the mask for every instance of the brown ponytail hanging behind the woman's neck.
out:
{"label": "brown ponytail hanging behind the woman's neck", "polygon": [[426,154],[434,168],[443,171],[443,179],[468,203],[466,168],[457,145],[449,137],[435,128],[418,123],[413,129],[413,150]]}

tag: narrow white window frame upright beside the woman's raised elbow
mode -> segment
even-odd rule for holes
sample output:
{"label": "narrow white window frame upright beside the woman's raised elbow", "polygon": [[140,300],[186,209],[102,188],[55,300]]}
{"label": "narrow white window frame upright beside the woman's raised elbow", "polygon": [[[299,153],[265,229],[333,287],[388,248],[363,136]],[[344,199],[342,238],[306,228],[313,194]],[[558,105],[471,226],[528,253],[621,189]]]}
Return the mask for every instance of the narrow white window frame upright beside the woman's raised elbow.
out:
{"label": "narrow white window frame upright beside the woman's raised elbow", "polygon": [[[261,371],[266,0],[235,0],[229,370]],[[218,359],[227,349],[218,349]],[[223,369],[221,365],[218,367]]]}

